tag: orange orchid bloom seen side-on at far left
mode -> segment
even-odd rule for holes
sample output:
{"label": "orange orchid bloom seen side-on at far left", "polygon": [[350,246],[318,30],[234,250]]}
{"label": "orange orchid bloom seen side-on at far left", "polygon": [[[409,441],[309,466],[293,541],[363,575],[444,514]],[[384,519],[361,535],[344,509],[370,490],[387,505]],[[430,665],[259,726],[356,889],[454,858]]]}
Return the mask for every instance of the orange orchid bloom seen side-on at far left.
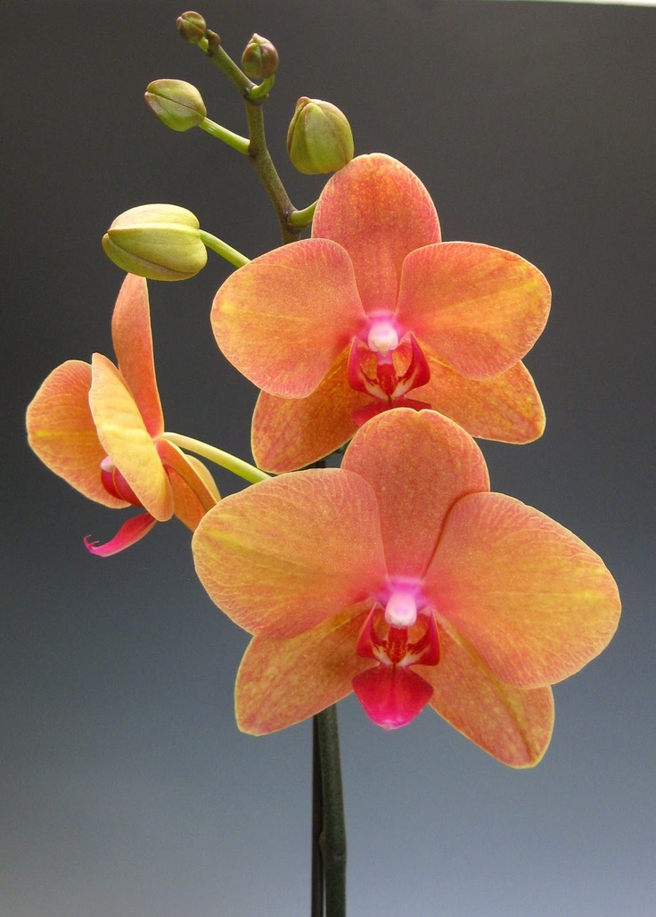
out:
{"label": "orange orchid bloom seen side-on at far left", "polygon": [[109,557],[172,515],[191,530],[219,499],[209,471],[162,438],[164,417],[153,360],[147,282],[128,274],[112,318],[117,367],[102,354],[91,365],[68,360],[53,370],[27,408],[29,445],[50,470],[96,503],[146,512],[104,545]]}

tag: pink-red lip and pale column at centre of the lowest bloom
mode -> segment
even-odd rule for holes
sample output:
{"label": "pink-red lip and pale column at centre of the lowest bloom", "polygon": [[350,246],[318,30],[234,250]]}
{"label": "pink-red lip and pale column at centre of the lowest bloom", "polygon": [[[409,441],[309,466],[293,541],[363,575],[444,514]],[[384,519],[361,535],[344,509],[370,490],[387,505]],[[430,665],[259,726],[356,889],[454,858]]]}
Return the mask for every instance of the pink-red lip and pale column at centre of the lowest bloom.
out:
{"label": "pink-red lip and pale column at centre of the lowest bloom", "polygon": [[410,669],[440,661],[435,616],[418,592],[401,585],[388,593],[385,607],[376,602],[355,647],[358,656],[377,660],[352,684],[366,715],[384,729],[410,723],[432,698],[432,686]]}

